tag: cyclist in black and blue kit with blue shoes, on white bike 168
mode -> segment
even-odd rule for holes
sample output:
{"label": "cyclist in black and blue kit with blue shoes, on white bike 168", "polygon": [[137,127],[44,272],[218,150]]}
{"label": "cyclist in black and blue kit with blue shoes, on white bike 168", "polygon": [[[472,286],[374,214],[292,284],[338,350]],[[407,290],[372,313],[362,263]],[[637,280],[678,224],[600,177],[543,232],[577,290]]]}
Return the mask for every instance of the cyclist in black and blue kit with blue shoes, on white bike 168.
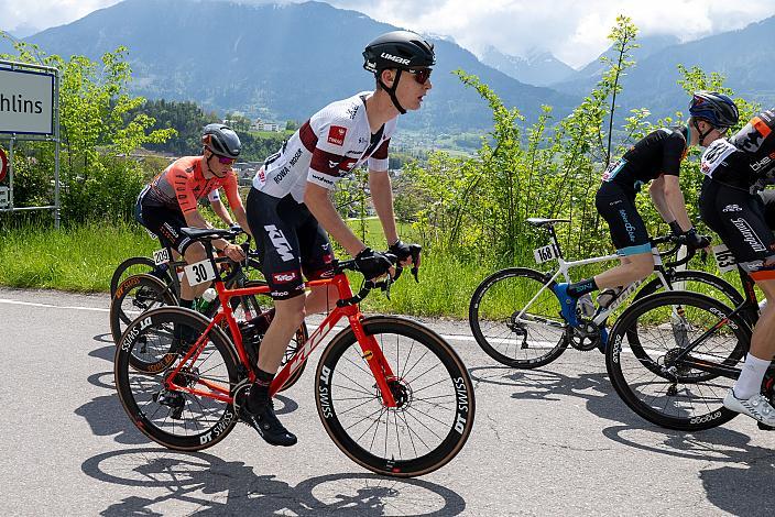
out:
{"label": "cyclist in black and blue kit with blue shoes, on white bike 168", "polygon": [[[572,284],[557,284],[563,317],[578,326],[578,300],[598,289],[598,304],[608,306],[619,292],[654,271],[654,257],[646,226],[635,208],[635,194],[651,182],[648,194],[659,216],[673,233],[690,249],[707,248],[710,242],[695,230],[680,191],[680,163],[689,146],[708,146],[738,122],[738,109],[723,95],[698,91],[689,105],[689,121],[684,127],[662,128],[648,133],[618,161],[602,177],[596,197],[598,212],[608,222],[621,264]],[[591,299],[585,296],[591,306]]]}

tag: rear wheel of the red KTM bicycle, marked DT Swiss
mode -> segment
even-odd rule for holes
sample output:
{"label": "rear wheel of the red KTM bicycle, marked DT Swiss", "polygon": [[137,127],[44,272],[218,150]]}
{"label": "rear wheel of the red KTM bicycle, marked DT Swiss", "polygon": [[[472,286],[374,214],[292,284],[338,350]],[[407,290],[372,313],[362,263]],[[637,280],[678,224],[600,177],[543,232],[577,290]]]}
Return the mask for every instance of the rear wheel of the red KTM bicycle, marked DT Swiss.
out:
{"label": "rear wheel of the red KTM bicycle, marked DT Swiss", "polygon": [[[238,421],[233,404],[166,389],[165,380],[174,370],[135,372],[130,367],[132,349],[141,337],[159,340],[160,345],[154,350],[159,351],[161,363],[162,356],[168,355],[176,324],[201,334],[208,323],[207,318],[190,309],[160,307],[134,320],[121,337],[120,345],[116,346],[113,375],[121,405],[143,435],[167,449],[198,451],[218,443]],[[233,348],[218,327],[212,328],[207,340],[201,352],[194,354],[196,360],[192,365],[178,373],[177,382],[203,389],[204,380],[221,387],[225,394],[233,395],[241,381]],[[177,355],[176,362],[181,358]]]}

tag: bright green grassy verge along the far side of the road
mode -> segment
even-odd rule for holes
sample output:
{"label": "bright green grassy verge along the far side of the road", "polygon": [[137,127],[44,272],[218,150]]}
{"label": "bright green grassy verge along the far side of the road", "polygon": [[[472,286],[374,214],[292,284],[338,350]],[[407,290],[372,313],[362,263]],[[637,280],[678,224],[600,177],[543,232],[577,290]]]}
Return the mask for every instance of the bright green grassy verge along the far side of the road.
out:
{"label": "bright green grassy verge along the far side of the road", "polygon": [[[379,220],[369,219],[363,227],[358,220],[349,223],[357,233],[364,233],[365,241],[372,248],[384,249]],[[412,240],[410,227],[402,227],[400,233],[405,240]],[[0,285],[107,293],[113,270],[121,261],[134,255],[151,256],[157,248],[159,243],[134,223],[89,223],[58,231],[42,227],[0,230]],[[338,250],[338,255],[345,256],[341,250]],[[707,267],[714,270],[714,264],[710,262]],[[525,266],[542,271],[548,271],[553,265],[544,264],[542,267],[532,260],[525,262]],[[699,262],[692,264],[695,268],[700,266]],[[374,292],[363,302],[363,309],[467,318],[471,294],[485,276],[496,270],[495,265],[460,260],[449,253],[426,253],[418,284],[406,271],[393,285],[390,300],[384,294]],[[574,272],[574,278],[594,273],[591,270]],[[728,274],[724,277],[740,288],[736,275]],[[362,277],[353,273],[350,279],[353,290],[357,290]],[[527,289],[528,293],[523,288],[512,289],[506,284],[502,290],[500,297],[494,299],[498,300],[498,310],[507,314],[511,312],[509,307],[524,305],[534,294],[533,288]],[[498,296],[498,293],[494,295]]]}

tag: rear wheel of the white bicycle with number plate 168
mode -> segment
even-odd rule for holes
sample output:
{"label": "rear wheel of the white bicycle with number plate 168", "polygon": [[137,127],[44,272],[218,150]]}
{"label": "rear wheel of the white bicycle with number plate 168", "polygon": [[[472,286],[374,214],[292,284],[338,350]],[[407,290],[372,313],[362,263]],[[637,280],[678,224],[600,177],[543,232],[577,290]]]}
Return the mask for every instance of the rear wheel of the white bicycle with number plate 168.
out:
{"label": "rear wheel of the white bicycle with number plate 168", "polygon": [[[568,345],[554,285],[547,275],[527,267],[507,267],[484,278],[468,308],[471,333],[484,353],[516,369],[536,369],[559,358]],[[530,301],[544,286],[532,306],[533,321],[516,321],[522,305],[514,300]]]}

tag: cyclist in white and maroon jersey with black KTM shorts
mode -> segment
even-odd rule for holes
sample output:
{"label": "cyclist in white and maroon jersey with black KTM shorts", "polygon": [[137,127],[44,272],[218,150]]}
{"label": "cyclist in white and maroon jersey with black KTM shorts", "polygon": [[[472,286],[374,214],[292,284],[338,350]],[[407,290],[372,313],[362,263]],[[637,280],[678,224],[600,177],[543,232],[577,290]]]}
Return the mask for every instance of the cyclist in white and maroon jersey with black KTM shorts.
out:
{"label": "cyclist in white and maroon jersey with black KTM shorts", "polygon": [[335,289],[312,289],[304,296],[304,277],[312,280],[331,273],[334,254],[327,232],[354,256],[367,278],[392,274],[389,257],[367,248],[329,198],[338,179],[354,167],[368,164],[369,187],[389,249],[402,265],[412,264],[411,245],[399,239],[395,226],[388,147],[399,114],[419,109],[432,88],[434,47],[413,32],[394,31],[371,42],[363,57],[363,68],[375,76],[375,90],[315,113],[280,152],[266,158],[248,195],[248,223],[275,312],[263,321],[268,329],[256,382],[238,404],[240,417],[274,446],[293,446],[296,437],[277,420],[269,385],[305,315],[323,312],[337,300]]}

